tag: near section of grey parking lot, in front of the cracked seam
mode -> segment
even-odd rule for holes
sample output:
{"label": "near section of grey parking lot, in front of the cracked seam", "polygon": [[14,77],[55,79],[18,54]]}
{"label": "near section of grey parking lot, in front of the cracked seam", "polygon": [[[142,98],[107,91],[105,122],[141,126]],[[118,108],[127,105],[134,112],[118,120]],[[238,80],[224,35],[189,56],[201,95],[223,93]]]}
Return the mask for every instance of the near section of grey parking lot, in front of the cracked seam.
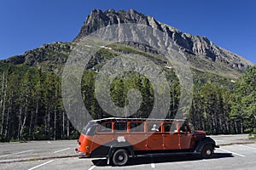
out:
{"label": "near section of grey parking lot, in front of the cracked seam", "polygon": [[77,157],[3,163],[0,169],[253,169],[255,167],[256,144],[225,145],[215,151],[212,159],[199,160],[194,156],[160,156],[132,159],[127,166],[112,167],[105,158],[79,159]]}

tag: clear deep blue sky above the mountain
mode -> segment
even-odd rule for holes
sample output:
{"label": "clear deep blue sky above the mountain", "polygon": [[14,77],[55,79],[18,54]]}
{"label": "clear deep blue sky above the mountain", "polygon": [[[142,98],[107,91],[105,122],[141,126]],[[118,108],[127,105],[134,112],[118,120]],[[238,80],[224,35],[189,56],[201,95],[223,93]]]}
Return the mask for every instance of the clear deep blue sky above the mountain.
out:
{"label": "clear deep blue sky above the mountain", "polygon": [[130,9],[212,42],[256,64],[253,0],[6,0],[0,3],[0,59],[77,36],[93,8]]}

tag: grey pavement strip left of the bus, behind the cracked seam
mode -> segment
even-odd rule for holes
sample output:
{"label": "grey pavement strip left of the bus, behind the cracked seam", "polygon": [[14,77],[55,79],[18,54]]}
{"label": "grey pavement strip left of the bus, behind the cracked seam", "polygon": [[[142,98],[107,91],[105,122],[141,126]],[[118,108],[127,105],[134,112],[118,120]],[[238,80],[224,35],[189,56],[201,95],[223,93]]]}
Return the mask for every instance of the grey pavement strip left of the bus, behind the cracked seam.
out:
{"label": "grey pavement strip left of the bus, behind the cracked seam", "polygon": [[1,143],[0,163],[75,156],[76,140]]}

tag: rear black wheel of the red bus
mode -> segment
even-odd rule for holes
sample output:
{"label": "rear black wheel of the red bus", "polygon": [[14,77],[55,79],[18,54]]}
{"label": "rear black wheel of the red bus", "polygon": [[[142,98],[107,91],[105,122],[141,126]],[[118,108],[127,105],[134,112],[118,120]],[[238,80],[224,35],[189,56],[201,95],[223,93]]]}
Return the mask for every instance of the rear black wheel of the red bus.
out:
{"label": "rear black wheel of the red bus", "polygon": [[116,150],[112,157],[113,165],[123,166],[128,162],[128,159],[129,159],[129,156],[126,150],[124,149]]}

